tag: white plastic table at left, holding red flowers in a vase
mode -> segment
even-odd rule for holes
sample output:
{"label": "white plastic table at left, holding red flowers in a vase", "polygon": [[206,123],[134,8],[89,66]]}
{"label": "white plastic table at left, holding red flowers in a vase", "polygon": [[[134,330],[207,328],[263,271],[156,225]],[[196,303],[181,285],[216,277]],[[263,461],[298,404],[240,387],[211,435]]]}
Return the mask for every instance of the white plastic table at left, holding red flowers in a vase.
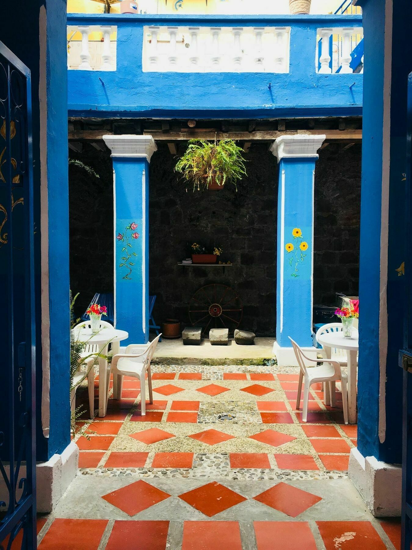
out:
{"label": "white plastic table at left, holding red flowers in a vase", "polygon": [[[92,335],[90,328],[81,328],[75,332],[75,338],[80,342],[87,342],[89,345],[97,345],[102,355],[107,355],[108,346],[112,344],[113,355],[119,353],[121,340],[129,338],[129,333],[119,331],[116,328],[104,327],[97,334]],[[109,392],[109,373],[107,359],[99,357],[99,416],[106,415],[107,395]]]}

